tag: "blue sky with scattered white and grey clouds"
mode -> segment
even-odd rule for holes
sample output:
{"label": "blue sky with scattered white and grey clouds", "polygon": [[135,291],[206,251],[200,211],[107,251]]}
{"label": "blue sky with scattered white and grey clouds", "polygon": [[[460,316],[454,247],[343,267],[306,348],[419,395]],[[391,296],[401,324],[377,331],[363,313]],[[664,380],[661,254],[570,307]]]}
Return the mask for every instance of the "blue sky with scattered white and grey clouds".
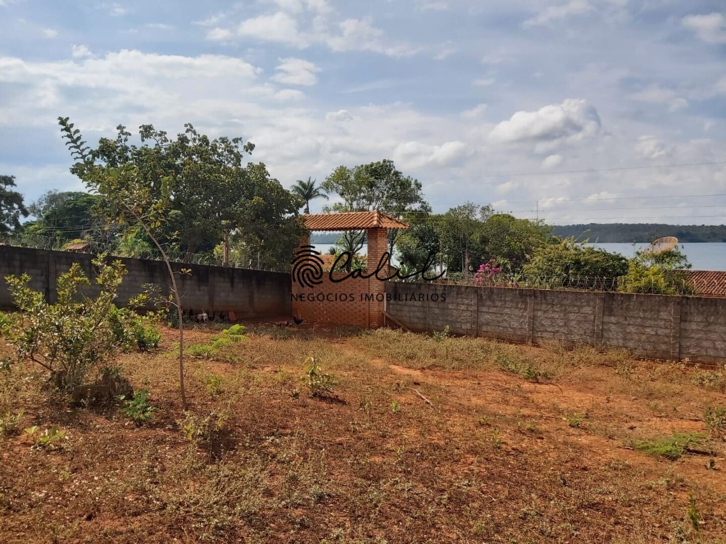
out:
{"label": "blue sky with scattered white and grey clouds", "polygon": [[242,136],[286,187],[391,159],[436,212],[726,223],[723,0],[0,0],[0,28],[28,202],[83,189],[61,115]]}

